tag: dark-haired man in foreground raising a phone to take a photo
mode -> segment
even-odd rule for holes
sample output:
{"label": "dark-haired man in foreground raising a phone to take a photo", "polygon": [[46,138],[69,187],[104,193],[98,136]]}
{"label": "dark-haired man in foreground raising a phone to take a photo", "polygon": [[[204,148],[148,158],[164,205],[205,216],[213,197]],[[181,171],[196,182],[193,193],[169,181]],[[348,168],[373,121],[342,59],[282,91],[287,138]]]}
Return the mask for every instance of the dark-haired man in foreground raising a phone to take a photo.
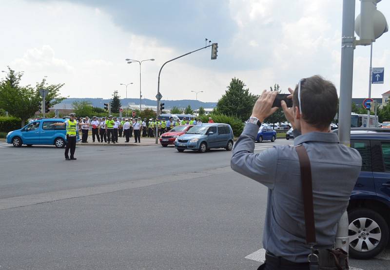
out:
{"label": "dark-haired man in foreground raising a phone to take a photo", "polygon": [[[330,124],[337,112],[334,85],[322,77],[299,81],[292,95],[292,108],[281,102],[293,128],[294,146],[303,145],[311,163],[314,207],[315,248],[334,246],[337,222],[348,206],[360,172],[360,154],[339,144]],[[254,154],[257,131],[268,116],[277,92],[264,91],[257,99],[252,116],[234,147],[232,169],[268,187],[263,232],[265,264],[259,269],[309,270],[301,173],[295,147],[278,145]]]}

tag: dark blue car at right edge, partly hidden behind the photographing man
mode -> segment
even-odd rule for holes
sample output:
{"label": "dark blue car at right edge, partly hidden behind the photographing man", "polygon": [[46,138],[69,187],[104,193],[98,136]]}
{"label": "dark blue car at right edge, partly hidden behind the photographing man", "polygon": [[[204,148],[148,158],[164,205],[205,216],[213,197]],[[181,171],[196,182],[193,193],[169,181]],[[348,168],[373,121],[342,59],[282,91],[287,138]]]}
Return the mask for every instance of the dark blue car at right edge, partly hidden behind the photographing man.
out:
{"label": "dark blue car at right edge, partly hidden behind the photographing man", "polygon": [[352,128],[351,147],[362,156],[362,168],[347,209],[350,255],[369,259],[389,244],[390,131]]}

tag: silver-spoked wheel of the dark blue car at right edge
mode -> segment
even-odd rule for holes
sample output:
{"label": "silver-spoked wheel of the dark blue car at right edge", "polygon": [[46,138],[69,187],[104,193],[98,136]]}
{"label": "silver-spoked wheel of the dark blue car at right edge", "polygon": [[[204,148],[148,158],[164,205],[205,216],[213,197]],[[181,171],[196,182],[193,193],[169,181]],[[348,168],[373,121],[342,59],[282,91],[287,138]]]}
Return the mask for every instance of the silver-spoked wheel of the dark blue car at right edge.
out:
{"label": "silver-spoked wheel of the dark blue car at right edge", "polygon": [[367,208],[348,213],[350,255],[370,259],[382,252],[389,240],[389,225],[377,212]]}

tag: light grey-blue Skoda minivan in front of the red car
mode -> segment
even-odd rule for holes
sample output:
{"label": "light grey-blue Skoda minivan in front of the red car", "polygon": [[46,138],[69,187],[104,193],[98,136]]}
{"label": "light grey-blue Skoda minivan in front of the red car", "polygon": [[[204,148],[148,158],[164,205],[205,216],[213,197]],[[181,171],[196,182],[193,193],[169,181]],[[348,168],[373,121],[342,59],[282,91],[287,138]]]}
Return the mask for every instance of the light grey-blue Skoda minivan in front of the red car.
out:
{"label": "light grey-blue Skoda minivan in front of the red car", "polygon": [[175,148],[179,152],[194,150],[200,153],[212,148],[233,149],[233,130],[228,124],[207,123],[196,125],[186,134],[176,138]]}

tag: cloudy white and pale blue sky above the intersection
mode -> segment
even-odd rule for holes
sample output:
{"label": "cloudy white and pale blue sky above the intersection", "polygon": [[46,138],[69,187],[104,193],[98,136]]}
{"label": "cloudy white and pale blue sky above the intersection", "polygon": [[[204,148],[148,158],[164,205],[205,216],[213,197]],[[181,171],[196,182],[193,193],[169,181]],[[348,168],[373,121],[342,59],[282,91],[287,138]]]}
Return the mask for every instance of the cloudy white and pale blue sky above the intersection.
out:
{"label": "cloudy white and pale blue sky above the intersection", "polygon": [[[259,94],[278,83],[283,90],[302,77],[320,74],[339,88],[341,0],[0,0],[0,70],[24,71],[23,84],[43,76],[65,83],[61,94],[108,98],[120,83],[133,82],[128,97],[154,99],[161,65],[218,42],[211,48],[168,63],[161,73],[163,99],[216,101],[232,77]],[[378,3],[390,21],[390,1]],[[356,15],[360,1],[356,0]],[[390,90],[390,34],[373,45],[373,66],[385,67]],[[353,97],[368,96],[370,47],[354,57]],[[387,75],[386,75],[387,74]],[[3,74],[2,74],[3,75]],[[1,76],[1,75],[0,75]]]}

